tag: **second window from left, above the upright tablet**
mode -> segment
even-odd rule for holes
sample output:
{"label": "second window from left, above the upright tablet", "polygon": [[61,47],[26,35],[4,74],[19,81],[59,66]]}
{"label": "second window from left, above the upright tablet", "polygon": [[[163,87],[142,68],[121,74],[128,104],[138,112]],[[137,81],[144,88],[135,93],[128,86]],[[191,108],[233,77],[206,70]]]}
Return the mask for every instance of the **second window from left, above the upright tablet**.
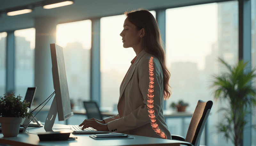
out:
{"label": "second window from left, above the upright tablet", "polygon": [[15,36],[15,94],[25,98],[28,87],[35,85],[36,29],[14,31]]}

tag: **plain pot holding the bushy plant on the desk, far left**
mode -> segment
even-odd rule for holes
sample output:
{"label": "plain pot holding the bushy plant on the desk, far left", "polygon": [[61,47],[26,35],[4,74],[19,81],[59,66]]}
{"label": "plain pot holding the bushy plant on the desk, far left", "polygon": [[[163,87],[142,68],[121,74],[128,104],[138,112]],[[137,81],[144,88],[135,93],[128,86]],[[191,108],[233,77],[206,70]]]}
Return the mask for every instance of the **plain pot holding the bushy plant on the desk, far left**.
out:
{"label": "plain pot holding the bushy plant on the desk, far left", "polygon": [[22,118],[19,117],[0,117],[2,133],[5,137],[14,137],[19,134],[20,123]]}

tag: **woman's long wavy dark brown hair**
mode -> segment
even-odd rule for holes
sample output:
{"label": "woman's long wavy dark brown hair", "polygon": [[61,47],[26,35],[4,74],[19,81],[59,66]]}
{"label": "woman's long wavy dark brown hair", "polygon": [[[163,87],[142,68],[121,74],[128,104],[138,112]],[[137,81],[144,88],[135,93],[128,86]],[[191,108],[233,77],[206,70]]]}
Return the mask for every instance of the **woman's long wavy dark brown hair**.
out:
{"label": "woman's long wavy dark brown hair", "polygon": [[145,35],[142,37],[142,48],[149,54],[156,56],[160,61],[164,78],[164,99],[168,99],[172,94],[169,85],[170,72],[165,64],[164,45],[156,19],[148,10],[139,9],[124,12],[124,14],[128,17],[128,20],[136,26],[137,30],[144,28]]}

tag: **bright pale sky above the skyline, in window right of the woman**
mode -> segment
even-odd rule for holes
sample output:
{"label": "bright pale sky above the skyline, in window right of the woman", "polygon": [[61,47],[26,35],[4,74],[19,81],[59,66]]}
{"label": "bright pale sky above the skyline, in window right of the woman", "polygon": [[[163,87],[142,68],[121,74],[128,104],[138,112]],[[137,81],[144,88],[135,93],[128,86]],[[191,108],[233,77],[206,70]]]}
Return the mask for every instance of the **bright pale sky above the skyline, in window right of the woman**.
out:
{"label": "bright pale sky above the skyline, in window right of the woman", "polygon": [[166,57],[171,62],[194,62],[205,67],[205,56],[217,42],[217,3],[166,10]]}

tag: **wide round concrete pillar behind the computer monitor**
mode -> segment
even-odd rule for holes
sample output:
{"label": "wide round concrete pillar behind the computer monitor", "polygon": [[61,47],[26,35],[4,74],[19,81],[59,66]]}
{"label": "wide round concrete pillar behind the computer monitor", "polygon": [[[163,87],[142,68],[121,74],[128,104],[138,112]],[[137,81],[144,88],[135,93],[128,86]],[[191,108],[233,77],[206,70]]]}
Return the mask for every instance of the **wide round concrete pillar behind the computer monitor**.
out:
{"label": "wide round concrete pillar behind the computer monitor", "polygon": [[[37,87],[35,95],[35,99],[37,100],[36,104],[41,104],[54,91],[50,44],[56,43],[56,25],[56,18],[35,18],[35,86]],[[47,105],[50,105],[51,103],[52,100],[48,102]]]}

